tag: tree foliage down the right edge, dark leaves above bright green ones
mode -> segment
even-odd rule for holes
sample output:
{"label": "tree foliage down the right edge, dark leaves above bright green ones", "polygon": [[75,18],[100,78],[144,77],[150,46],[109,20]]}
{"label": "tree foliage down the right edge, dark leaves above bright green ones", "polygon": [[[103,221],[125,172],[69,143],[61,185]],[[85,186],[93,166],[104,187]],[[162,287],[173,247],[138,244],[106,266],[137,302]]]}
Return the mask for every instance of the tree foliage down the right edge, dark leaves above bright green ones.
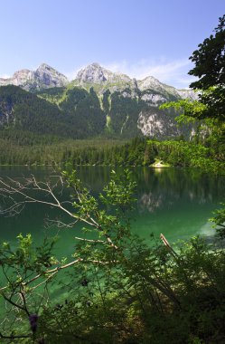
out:
{"label": "tree foliage down the right edge, dark leaves above bright green ones", "polygon": [[[199,44],[199,49],[192,53],[190,60],[195,66],[190,75],[199,78],[191,83],[190,87],[198,91],[198,100],[180,100],[162,105],[162,109],[170,107],[183,110],[183,115],[178,116],[179,122],[198,120],[199,128],[203,134],[197,139],[202,140],[206,147],[210,147],[217,159],[215,167],[224,169],[225,160],[225,14],[219,18],[219,25],[214,30],[215,34],[206,38]],[[203,120],[202,120],[203,119]],[[201,121],[200,121],[201,120]],[[199,133],[198,133],[199,134]],[[204,137],[206,136],[206,138]],[[204,164],[204,159],[197,159]],[[219,225],[221,236],[224,236],[225,209],[219,209],[212,221]]]}

